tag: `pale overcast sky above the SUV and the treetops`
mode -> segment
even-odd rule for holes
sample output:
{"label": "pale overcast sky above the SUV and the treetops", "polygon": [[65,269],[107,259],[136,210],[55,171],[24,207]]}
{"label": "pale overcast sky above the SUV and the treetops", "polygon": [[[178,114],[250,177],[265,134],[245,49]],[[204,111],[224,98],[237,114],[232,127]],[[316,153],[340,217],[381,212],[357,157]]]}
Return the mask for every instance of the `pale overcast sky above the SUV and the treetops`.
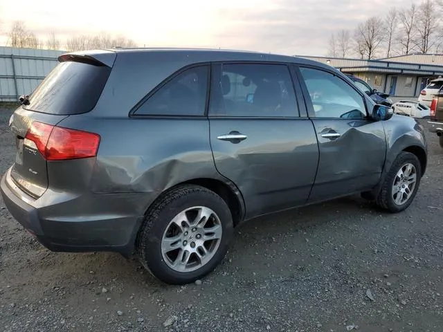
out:
{"label": "pale overcast sky above the SUV and the treetops", "polygon": [[[114,6],[114,3],[117,6]],[[21,20],[46,39],[106,32],[140,46],[259,50],[326,55],[329,36],[410,0],[0,0],[1,44]]]}

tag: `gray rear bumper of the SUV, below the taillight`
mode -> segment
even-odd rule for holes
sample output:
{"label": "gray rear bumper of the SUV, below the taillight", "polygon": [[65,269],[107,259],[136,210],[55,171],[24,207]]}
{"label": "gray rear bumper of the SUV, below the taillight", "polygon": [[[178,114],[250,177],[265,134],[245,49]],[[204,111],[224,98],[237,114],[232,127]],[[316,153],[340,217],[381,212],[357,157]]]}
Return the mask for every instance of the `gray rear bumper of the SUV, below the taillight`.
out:
{"label": "gray rear bumper of the SUV, below the taillight", "polygon": [[[1,179],[1,195],[10,214],[52,251],[112,251],[132,255],[144,210],[154,193],[91,194],[87,197],[48,190],[37,200],[10,178]],[[131,211],[132,210],[132,211]]]}

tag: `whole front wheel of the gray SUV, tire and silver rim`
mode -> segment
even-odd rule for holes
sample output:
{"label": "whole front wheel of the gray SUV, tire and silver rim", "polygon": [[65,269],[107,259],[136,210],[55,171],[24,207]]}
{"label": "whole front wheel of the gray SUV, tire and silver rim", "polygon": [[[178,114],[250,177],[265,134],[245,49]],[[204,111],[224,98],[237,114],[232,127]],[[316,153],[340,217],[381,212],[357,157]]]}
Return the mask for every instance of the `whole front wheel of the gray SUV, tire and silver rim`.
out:
{"label": "whole front wheel of the gray SUV, tire and silver rim", "polygon": [[421,179],[420,162],[409,152],[401,152],[384,179],[376,203],[389,212],[401,212],[415,198]]}

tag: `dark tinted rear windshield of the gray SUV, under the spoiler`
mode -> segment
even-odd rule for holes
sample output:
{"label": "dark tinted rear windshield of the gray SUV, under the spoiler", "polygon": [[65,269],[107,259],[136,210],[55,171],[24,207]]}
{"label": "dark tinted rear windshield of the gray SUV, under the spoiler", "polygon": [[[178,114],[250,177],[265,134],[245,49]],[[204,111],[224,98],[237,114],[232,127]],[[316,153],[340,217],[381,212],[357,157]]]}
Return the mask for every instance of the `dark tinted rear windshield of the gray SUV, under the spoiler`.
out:
{"label": "dark tinted rear windshield of the gray SUV, under the spoiler", "polygon": [[60,62],[37,86],[24,108],[57,115],[87,113],[96,106],[109,73],[108,66]]}

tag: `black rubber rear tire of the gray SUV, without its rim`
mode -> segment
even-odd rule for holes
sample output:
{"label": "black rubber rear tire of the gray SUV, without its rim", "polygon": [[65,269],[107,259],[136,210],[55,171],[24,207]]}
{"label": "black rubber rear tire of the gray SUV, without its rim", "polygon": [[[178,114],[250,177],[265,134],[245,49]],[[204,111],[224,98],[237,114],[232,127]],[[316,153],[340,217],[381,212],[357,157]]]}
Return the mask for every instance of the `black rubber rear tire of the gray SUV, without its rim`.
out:
{"label": "black rubber rear tire of the gray SUV, without its rim", "polygon": [[[204,266],[191,272],[177,272],[164,261],[161,241],[174,216],[194,206],[210,208],[217,214],[222,236],[215,255]],[[233,219],[224,199],[205,187],[183,185],[163,194],[147,211],[138,231],[136,253],[143,266],[161,281],[167,284],[188,284],[215,269],[226,255],[232,236]]]}

